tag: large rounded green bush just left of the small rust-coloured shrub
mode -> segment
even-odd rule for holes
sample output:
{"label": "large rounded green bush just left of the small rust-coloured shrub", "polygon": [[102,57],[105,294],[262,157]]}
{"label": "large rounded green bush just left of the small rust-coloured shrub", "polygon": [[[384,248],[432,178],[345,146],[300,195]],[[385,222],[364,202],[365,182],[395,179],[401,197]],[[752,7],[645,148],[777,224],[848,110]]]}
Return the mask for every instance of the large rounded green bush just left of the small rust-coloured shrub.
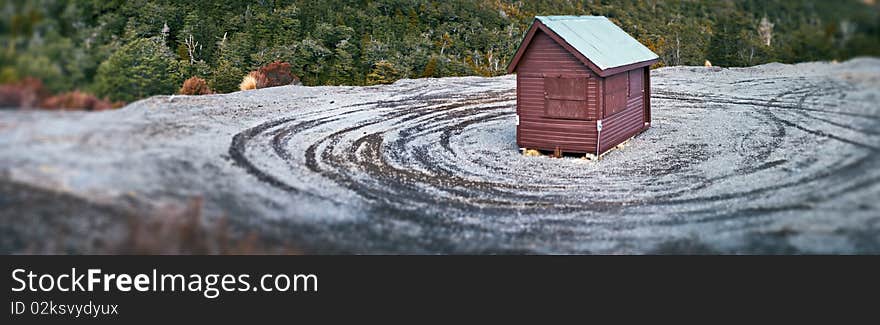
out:
{"label": "large rounded green bush just left of the small rust-coloured shrub", "polygon": [[173,94],[182,78],[174,55],[159,38],[141,38],[120,48],[101,63],[95,92],[112,100]]}

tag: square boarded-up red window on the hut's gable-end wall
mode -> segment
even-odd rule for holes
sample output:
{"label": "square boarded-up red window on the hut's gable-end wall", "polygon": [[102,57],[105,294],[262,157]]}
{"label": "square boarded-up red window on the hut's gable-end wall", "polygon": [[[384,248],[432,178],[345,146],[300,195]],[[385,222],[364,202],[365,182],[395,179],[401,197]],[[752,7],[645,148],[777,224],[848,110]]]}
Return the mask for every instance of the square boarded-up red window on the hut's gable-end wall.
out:
{"label": "square boarded-up red window on the hut's gable-end wall", "polygon": [[587,78],[545,75],[544,108],[548,117],[587,119]]}

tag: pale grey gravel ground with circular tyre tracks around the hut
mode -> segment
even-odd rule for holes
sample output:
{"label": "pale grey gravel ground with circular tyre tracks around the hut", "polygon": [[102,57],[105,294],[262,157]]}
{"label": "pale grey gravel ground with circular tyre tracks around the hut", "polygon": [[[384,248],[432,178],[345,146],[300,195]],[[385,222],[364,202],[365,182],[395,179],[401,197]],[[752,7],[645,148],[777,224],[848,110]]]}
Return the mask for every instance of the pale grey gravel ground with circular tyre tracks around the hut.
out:
{"label": "pale grey gravel ground with circular tyre tracks around the hut", "polygon": [[652,127],[601,160],[522,154],[504,76],[4,111],[0,175],[108,204],[201,196],[307,252],[880,252],[880,61],[651,80]]}

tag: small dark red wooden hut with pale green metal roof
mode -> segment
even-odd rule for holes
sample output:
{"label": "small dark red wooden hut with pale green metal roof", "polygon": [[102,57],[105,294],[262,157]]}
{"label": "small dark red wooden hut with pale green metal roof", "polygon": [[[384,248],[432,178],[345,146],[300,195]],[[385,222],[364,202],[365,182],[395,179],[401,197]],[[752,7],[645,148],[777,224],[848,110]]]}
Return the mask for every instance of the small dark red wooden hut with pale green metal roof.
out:
{"label": "small dark red wooden hut with pale green metal roof", "polygon": [[602,16],[538,16],[516,72],[520,148],[601,155],[651,125],[647,47]]}

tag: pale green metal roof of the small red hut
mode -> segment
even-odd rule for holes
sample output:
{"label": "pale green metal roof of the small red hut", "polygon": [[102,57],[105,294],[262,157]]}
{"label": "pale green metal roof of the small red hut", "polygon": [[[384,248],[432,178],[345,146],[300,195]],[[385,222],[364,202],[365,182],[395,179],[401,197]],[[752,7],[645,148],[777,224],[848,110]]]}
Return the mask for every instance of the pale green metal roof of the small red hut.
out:
{"label": "pale green metal roof of the small red hut", "polygon": [[537,16],[535,19],[602,70],[658,58],[605,16]]}

